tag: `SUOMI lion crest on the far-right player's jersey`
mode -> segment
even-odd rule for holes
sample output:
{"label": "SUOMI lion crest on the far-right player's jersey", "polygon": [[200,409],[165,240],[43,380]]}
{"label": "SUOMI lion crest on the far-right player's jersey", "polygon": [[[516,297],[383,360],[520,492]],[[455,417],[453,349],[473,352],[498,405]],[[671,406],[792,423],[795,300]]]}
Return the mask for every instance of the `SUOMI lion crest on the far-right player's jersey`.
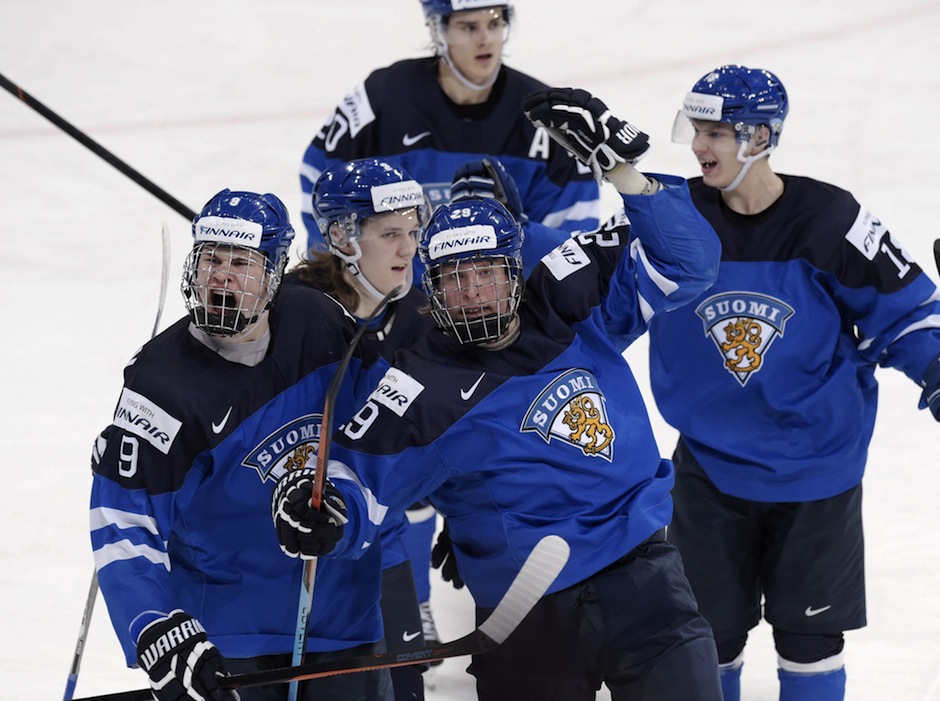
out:
{"label": "SUOMI lion crest on the far-right player's jersey", "polygon": [[695,313],[721,353],[725,369],[743,387],[763,367],[770,345],[783,336],[787,319],[794,312],[773,297],[724,292],[706,299]]}

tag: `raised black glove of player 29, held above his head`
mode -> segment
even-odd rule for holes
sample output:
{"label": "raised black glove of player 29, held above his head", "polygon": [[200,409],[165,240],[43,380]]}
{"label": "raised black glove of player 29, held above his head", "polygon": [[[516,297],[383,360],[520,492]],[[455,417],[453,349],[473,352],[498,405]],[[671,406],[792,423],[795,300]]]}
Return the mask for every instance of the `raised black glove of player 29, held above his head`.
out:
{"label": "raised black glove of player 29, held above his head", "polygon": [[526,117],[590,166],[600,178],[620,163],[636,165],[649,150],[649,137],[610,113],[586,90],[551,88],[522,102]]}

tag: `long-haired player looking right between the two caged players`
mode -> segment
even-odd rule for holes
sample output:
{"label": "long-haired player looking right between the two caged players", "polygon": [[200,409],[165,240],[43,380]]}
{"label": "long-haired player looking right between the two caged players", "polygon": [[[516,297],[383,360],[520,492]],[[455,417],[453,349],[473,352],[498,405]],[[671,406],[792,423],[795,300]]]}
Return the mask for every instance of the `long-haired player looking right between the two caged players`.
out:
{"label": "long-haired player looking right between the two caged players", "polygon": [[[317,180],[313,212],[326,250],[312,251],[284,282],[308,285],[331,295],[360,324],[387,294],[399,289],[362,341],[376,344],[391,360],[396,349],[433,327],[430,317],[420,312],[423,295],[412,285],[411,261],[418,248],[418,233],[430,216],[421,185],[403,170],[376,158],[338,163]],[[390,652],[424,647],[415,578],[402,541],[406,529],[405,517],[389,519],[382,528],[382,618]],[[396,699],[424,698],[423,669],[391,670]]]}

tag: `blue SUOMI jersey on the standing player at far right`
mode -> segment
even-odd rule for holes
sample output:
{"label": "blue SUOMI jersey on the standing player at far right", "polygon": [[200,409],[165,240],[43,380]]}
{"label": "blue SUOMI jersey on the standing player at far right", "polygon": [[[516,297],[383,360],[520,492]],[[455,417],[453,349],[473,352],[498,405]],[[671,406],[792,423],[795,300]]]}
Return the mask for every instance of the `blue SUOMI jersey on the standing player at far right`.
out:
{"label": "blue SUOMI jersey on the standing player at far right", "polygon": [[940,353],[940,296],[848,192],[781,176],[743,216],[700,178],[721,239],[715,285],[650,331],[663,417],[726,494],[810,501],[857,485],[875,422],[876,366],[920,382]]}

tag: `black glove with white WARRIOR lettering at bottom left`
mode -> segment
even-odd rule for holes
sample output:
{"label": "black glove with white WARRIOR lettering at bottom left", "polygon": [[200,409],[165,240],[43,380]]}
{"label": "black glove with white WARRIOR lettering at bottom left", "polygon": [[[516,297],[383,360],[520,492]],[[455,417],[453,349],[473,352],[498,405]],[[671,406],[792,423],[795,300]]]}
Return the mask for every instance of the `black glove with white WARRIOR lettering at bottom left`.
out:
{"label": "black glove with white WARRIOR lettering at bottom left", "polygon": [[150,675],[157,701],[238,701],[219,686],[225,661],[195,618],[179,609],[144,628],[137,639],[137,664]]}

